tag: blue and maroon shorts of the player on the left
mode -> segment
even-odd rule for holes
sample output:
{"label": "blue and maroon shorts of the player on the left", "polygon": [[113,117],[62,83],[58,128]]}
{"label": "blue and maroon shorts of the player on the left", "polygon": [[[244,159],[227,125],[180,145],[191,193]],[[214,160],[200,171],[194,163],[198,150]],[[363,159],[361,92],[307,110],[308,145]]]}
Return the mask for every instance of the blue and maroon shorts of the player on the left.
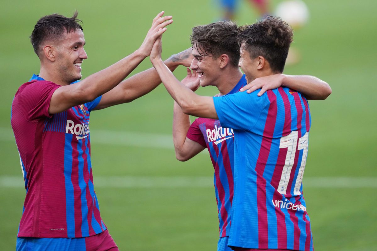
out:
{"label": "blue and maroon shorts of the player on the left", "polygon": [[17,237],[16,251],[119,251],[109,231],[82,238]]}

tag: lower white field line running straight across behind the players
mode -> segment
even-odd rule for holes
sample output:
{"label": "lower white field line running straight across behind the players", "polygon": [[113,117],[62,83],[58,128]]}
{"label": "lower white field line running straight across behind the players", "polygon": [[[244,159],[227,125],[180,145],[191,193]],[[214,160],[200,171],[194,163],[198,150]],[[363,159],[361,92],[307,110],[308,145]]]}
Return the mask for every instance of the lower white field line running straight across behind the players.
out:
{"label": "lower white field line running straight across behind the players", "polygon": [[[94,176],[95,187],[124,188],[175,188],[175,187],[213,187],[213,178],[207,176]],[[0,187],[23,187],[22,175],[0,176]],[[303,186],[316,188],[377,188],[377,177],[308,177]]]}

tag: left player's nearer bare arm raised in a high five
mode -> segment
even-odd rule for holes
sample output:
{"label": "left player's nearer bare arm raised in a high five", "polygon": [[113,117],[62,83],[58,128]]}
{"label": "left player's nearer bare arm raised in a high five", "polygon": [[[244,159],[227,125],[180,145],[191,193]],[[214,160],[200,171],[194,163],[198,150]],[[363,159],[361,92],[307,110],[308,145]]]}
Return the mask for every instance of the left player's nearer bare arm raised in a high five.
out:
{"label": "left player's nearer bare arm raised in a high five", "polygon": [[48,112],[50,114],[60,113],[72,106],[92,101],[118,85],[144,58],[150,55],[156,38],[166,31],[165,26],[172,23],[172,16],[162,17],[163,14],[164,12],[160,12],[153,19],[152,27],[143,44],[131,55],[90,75],[77,84],[65,85],[54,91]]}

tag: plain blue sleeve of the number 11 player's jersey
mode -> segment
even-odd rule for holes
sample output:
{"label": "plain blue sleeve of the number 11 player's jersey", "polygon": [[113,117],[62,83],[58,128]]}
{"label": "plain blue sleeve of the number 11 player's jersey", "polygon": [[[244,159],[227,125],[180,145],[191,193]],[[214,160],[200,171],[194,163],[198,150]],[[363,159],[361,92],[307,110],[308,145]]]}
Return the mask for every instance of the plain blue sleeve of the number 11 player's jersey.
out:
{"label": "plain blue sleeve of the number 11 player's jersey", "polygon": [[216,113],[224,127],[248,130],[254,127],[265,106],[266,96],[253,93],[238,92],[221,97],[213,97]]}

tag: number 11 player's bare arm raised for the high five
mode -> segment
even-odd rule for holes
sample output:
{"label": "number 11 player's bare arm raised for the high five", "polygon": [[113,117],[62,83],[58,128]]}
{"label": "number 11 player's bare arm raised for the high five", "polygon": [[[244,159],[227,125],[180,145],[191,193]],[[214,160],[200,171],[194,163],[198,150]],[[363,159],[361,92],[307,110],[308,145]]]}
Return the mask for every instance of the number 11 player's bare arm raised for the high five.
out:
{"label": "number 11 player's bare arm raised for the high five", "polygon": [[190,114],[196,117],[217,119],[218,117],[212,97],[199,96],[176,79],[173,73],[162,61],[161,51],[161,37],[159,37],[153,44],[153,49],[149,58],[153,67],[155,67],[158,72],[166,90],[178,105],[181,106],[182,111],[185,114]]}

